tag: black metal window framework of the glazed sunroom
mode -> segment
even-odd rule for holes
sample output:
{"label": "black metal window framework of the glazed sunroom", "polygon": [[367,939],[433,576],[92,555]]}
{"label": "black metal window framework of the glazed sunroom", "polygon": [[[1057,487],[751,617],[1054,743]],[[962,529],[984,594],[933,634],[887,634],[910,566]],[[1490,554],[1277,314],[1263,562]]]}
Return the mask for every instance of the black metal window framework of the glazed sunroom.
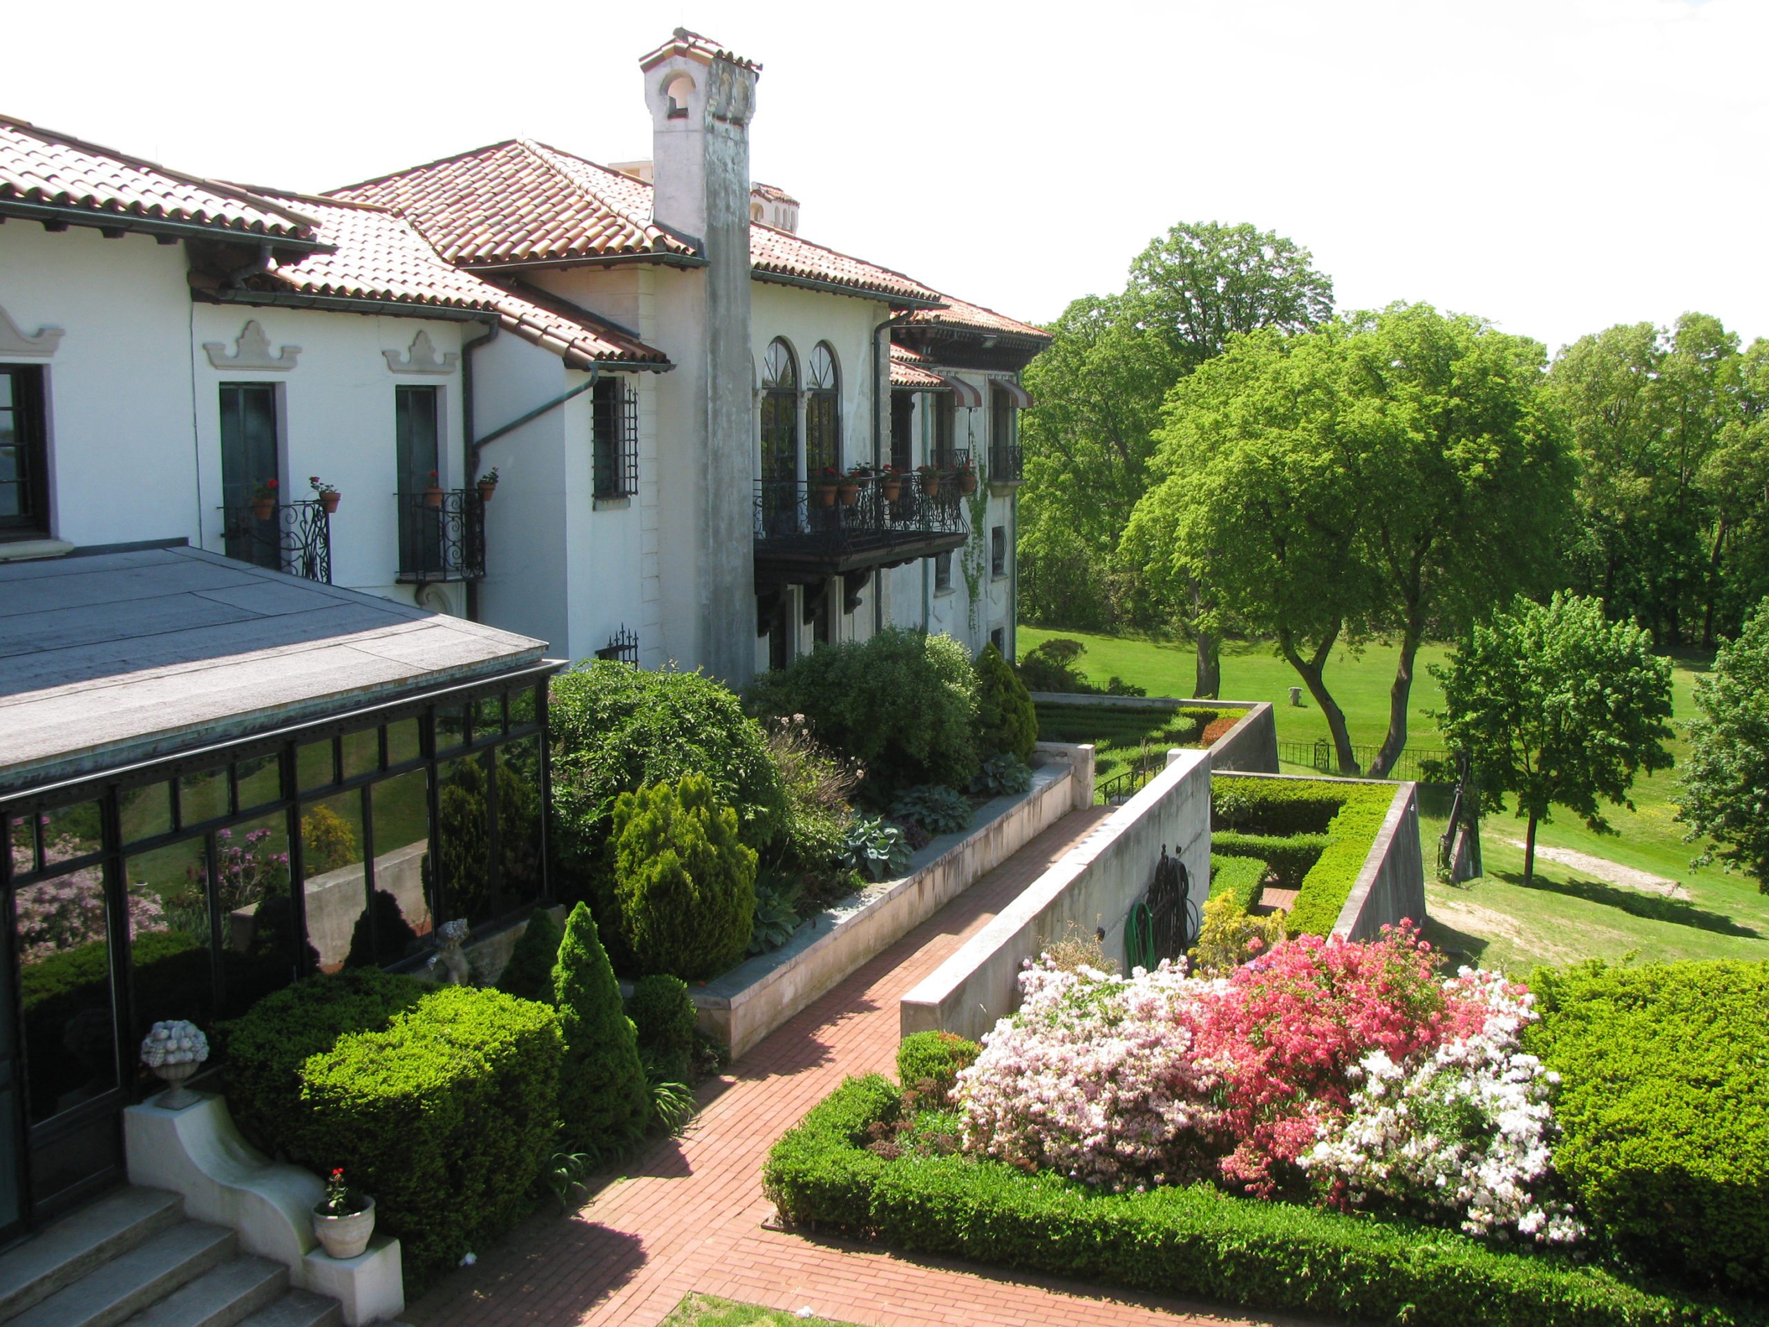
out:
{"label": "black metal window framework of the glazed sunroom", "polygon": [[[111,989],[111,1017],[117,1028],[115,1051],[119,1055],[119,1063],[115,1065],[113,1083],[117,1086],[96,1093],[88,1101],[83,1101],[65,1111],[53,1116],[42,1118],[35,1124],[28,1122],[28,1111],[25,1106],[23,1085],[30,1081],[30,1046],[28,1039],[23,1035],[23,1028],[18,1030],[12,1056],[21,1067],[21,1074],[9,1085],[14,1097],[18,1099],[16,1120],[18,1120],[18,1138],[9,1139],[12,1159],[18,1164],[18,1184],[19,1187],[19,1205],[25,1214],[34,1214],[28,1219],[44,1219],[55,1212],[65,1210],[67,1207],[83,1201],[90,1193],[97,1193],[110,1184],[122,1180],[120,1173],[101,1171],[87,1180],[83,1180],[78,1189],[62,1191],[57,1194],[35,1194],[30,1193],[30,1168],[25,1159],[44,1147],[53,1147],[58,1139],[78,1136],[81,1131],[92,1129],[96,1124],[103,1122],[106,1115],[115,1115],[129,1101],[140,1099],[143,1095],[142,1085],[134,1076],[133,1063],[133,1044],[131,1037],[140,1037],[142,1028],[136,1019],[136,991],[133,980],[131,966],[131,924],[129,924],[129,895],[127,895],[127,862],[129,858],[142,856],[145,853],[175,848],[193,840],[203,840],[209,862],[216,862],[216,835],[226,830],[234,830],[244,825],[265,821],[271,816],[281,816],[285,821],[285,837],[288,844],[288,879],[290,879],[290,952],[288,978],[297,980],[301,977],[311,975],[313,963],[310,952],[310,932],[306,918],[306,892],[302,888],[294,888],[295,883],[304,883],[308,876],[302,871],[302,826],[301,814],[302,809],[311,809],[338,794],[370,789],[377,784],[384,784],[393,779],[410,775],[416,770],[426,771],[426,830],[428,844],[426,853],[432,863],[442,860],[442,826],[439,817],[439,794],[440,794],[440,768],[451,764],[467,756],[479,756],[490,764],[488,777],[488,796],[486,796],[486,825],[488,825],[488,844],[486,844],[486,869],[490,874],[490,890],[494,901],[501,899],[501,871],[502,871],[502,853],[497,839],[497,752],[511,747],[513,743],[532,740],[538,748],[538,869],[540,869],[540,892],[534,897],[513,901],[508,908],[495,909],[483,917],[472,929],[472,934],[485,934],[508,925],[511,920],[527,915],[536,902],[552,899],[552,881],[548,876],[548,812],[550,807],[550,754],[547,745],[547,679],[557,671],[557,664],[541,664],[536,667],[522,669],[518,672],[509,672],[495,679],[476,681],[471,685],[449,687],[426,692],[417,697],[407,697],[384,706],[370,706],[364,710],[356,710],[343,715],[327,717],[324,720],[313,720],[308,724],[288,725],[276,729],[272,733],[241,738],[226,743],[218,743],[212,747],[203,747],[198,750],[180,752],[177,756],[168,756],[154,761],[145,761],[133,766],[124,766],[117,770],[108,770],[94,775],[87,775],[76,780],[65,780],[48,787],[21,789],[12,793],[0,793],[0,826],[5,828],[7,835],[7,853],[0,853],[0,908],[4,908],[5,918],[5,954],[0,955],[0,970],[5,973],[7,991],[5,998],[11,1001],[14,1017],[23,1010],[23,975],[21,964],[16,961],[16,894],[21,888],[32,885],[57,881],[65,876],[73,876],[80,871],[99,869],[104,894],[104,915],[106,915],[106,940],[108,940],[108,980]],[[520,694],[532,694],[532,717],[524,722],[511,722],[509,697]],[[483,708],[481,702],[495,701],[490,710]],[[463,717],[458,738],[453,731],[448,734],[439,733],[439,715],[444,711],[458,711]],[[486,722],[481,715],[490,713],[492,718]],[[393,724],[402,724],[407,720],[417,720],[419,736],[419,754],[400,761],[389,763],[389,738],[387,731]],[[478,727],[476,727],[478,724]],[[368,729],[377,729],[377,768],[371,771],[359,773],[356,777],[345,777],[343,764],[343,738],[347,734],[363,733]],[[306,747],[318,741],[331,743],[331,775],[333,780],[318,784],[313,787],[301,787],[299,779],[299,756]],[[448,745],[442,745],[448,743]],[[274,757],[278,763],[278,796],[265,798],[255,805],[241,805],[239,796],[239,766],[242,761],[253,761],[258,757]],[[226,814],[211,816],[207,819],[186,821],[182,816],[182,796],[179,794],[179,780],[186,775],[207,773],[214,770],[226,770]],[[170,798],[170,823],[172,828],[150,837],[124,840],[120,800],[124,794],[133,793],[142,787],[150,787],[154,784],[168,786]],[[99,826],[101,826],[101,848],[81,853],[78,856],[69,856],[58,862],[46,860],[44,832],[41,825],[46,816],[55,810],[76,807],[81,803],[97,803],[99,807]],[[16,823],[25,821],[30,826],[30,846],[25,849],[30,855],[32,869],[14,871],[12,863],[12,842]],[[364,844],[363,844],[363,876],[364,876],[364,908],[370,913],[370,927],[373,929],[373,895],[375,895],[375,867],[373,867],[373,825],[364,821]],[[449,899],[444,894],[440,883],[440,869],[432,865],[423,881],[425,899],[430,909],[432,920],[439,925],[442,920],[451,917]],[[219,955],[219,925],[216,918],[216,895],[214,885],[209,890],[209,909],[211,909],[211,998],[214,1009],[223,1009],[226,1003],[226,991],[223,986],[221,973],[221,955]],[[402,971],[423,966],[426,954],[403,955],[394,963],[387,963],[389,971]],[[147,1085],[147,1092],[157,1090],[156,1085]],[[4,1164],[4,1162],[0,1162]],[[51,1203],[51,1207],[44,1207]]]}

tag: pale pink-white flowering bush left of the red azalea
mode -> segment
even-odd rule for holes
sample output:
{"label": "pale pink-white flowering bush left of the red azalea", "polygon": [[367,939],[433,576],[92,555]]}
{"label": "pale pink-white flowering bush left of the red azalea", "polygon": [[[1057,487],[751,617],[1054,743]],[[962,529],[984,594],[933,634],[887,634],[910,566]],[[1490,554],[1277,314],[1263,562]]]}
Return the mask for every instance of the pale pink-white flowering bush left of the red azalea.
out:
{"label": "pale pink-white flowering bush left of the red azalea", "polygon": [[1215,984],[1049,961],[1019,982],[1019,1012],[959,1072],[964,1150],[1113,1191],[1196,1173],[1215,1111],[1187,1014]]}

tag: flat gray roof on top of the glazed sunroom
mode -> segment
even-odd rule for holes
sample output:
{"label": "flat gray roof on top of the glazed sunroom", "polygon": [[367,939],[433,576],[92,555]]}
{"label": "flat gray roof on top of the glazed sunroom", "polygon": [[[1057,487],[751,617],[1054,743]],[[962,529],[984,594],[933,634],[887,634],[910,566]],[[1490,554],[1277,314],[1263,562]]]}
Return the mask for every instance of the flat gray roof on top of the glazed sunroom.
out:
{"label": "flat gray roof on top of the glazed sunroom", "polygon": [[0,563],[0,789],[495,678],[543,651],[200,548]]}

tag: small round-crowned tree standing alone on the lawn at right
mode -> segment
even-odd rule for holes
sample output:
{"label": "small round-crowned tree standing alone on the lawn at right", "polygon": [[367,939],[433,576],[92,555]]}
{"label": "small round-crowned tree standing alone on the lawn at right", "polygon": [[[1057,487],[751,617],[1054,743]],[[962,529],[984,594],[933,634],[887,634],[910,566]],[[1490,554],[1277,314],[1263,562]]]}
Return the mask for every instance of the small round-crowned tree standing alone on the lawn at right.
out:
{"label": "small round-crowned tree standing alone on the lawn at right", "polygon": [[1603,603],[1555,593],[1546,605],[1518,598],[1477,625],[1444,685],[1445,740],[1468,750],[1481,786],[1518,798],[1528,817],[1523,883],[1535,872],[1535,826],[1553,807],[1613,833],[1597,798],[1629,810],[1635,777],[1668,770],[1670,660],[1633,623],[1604,619]]}

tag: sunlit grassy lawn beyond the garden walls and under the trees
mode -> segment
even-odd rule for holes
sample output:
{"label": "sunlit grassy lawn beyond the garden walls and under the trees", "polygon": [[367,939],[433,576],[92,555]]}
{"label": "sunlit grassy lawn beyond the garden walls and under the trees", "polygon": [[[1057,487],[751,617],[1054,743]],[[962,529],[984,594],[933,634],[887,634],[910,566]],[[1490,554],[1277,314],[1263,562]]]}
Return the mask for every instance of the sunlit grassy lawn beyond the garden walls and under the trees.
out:
{"label": "sunlit grassy lawn beyond the garden walls and under the trees", "polygon": [[[1081,632],[1040,632],[1022,626],[1019,648],[1024,653],[1053,635],[1086,644],[1081,669],[1102,683],[1118,674],[1145,687],[1150,695],[1189,695],[1192,690],[1192,651],[1189,646],[1130,637],[1102,637]],[[1373,644],[1362,651],[1337,651],[1327,665],[1327,687],[1346,711],[1346,725],[1357,743],[1380,743],[1389,724],[1389,687],[1394,681],[1396,649]],[[1426,672],[1426,664],[1442,664],[1444,646],[1419,651],[1419,678],[1408,704],[1408,747],[1440,747],[1442,738],[1431,710],[1442,706],[1442,692]],[[1673,674],[1675,718],[1693,711],[1695,679],[1709,667],[1705,655],[1679,655]],[[1270,653],[1270,646],[1233,644],[1222,651],[1224,701],[1270,701],[1275,706],[1279,741],[1314,741],[1327,734],[1327,722],[1304,692],[1304,708],[1290,706],[1295,671]],[[1681,727],[1670,750],[1679,759],[1686,752]],[[1286,766],[1300,773],[1300,766]],[[1638,961],[1652,959],[1769,959],[1769,897],[1755,881],[1728,876],[1718,867],[1693,871],[1695,844],[1682,842],[1682,826],[1673,821],[1677,771],[1665,770],[1635,786],[1635,810],[1608,810],[1615,835],[1596,835],[1576,817],[1562,812],[1541,826],[1537,842],[1569,848],[1654,876],[1677,881],[1688,899],[1666,899],[1596,878],[1537,858],[1535,879],[1523,888],[1523,849],[1509,840],[1523,839],[1523,821],[1509,812],[1489,812],[1481,823],[1486,874],[1467,885],[1449,886],[1429,879],[1426,899],[1431,932],[1438,943],[1489,968],[1523,975],[1541,963],[1571,963],[1585,957]],[[1431,842],[1442,821],[1424,819],[1421,832],[1428,865],[1435,858]]]}

